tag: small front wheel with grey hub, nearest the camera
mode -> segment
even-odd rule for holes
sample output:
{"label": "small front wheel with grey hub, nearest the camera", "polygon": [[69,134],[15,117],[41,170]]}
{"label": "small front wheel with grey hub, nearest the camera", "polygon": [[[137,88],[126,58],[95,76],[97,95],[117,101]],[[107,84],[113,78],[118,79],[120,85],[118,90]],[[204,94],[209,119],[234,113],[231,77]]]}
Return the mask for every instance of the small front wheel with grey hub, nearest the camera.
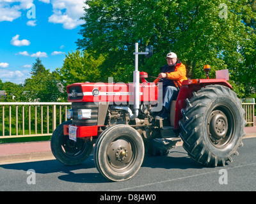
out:
{"label": "small front wheel with grey hub, nearest the camera", "polygon": [[143,140],[135,129],[124,124],[111,126],[95,144],[95,166],[106,179],[128,180],[140,169],[144,152]]}

